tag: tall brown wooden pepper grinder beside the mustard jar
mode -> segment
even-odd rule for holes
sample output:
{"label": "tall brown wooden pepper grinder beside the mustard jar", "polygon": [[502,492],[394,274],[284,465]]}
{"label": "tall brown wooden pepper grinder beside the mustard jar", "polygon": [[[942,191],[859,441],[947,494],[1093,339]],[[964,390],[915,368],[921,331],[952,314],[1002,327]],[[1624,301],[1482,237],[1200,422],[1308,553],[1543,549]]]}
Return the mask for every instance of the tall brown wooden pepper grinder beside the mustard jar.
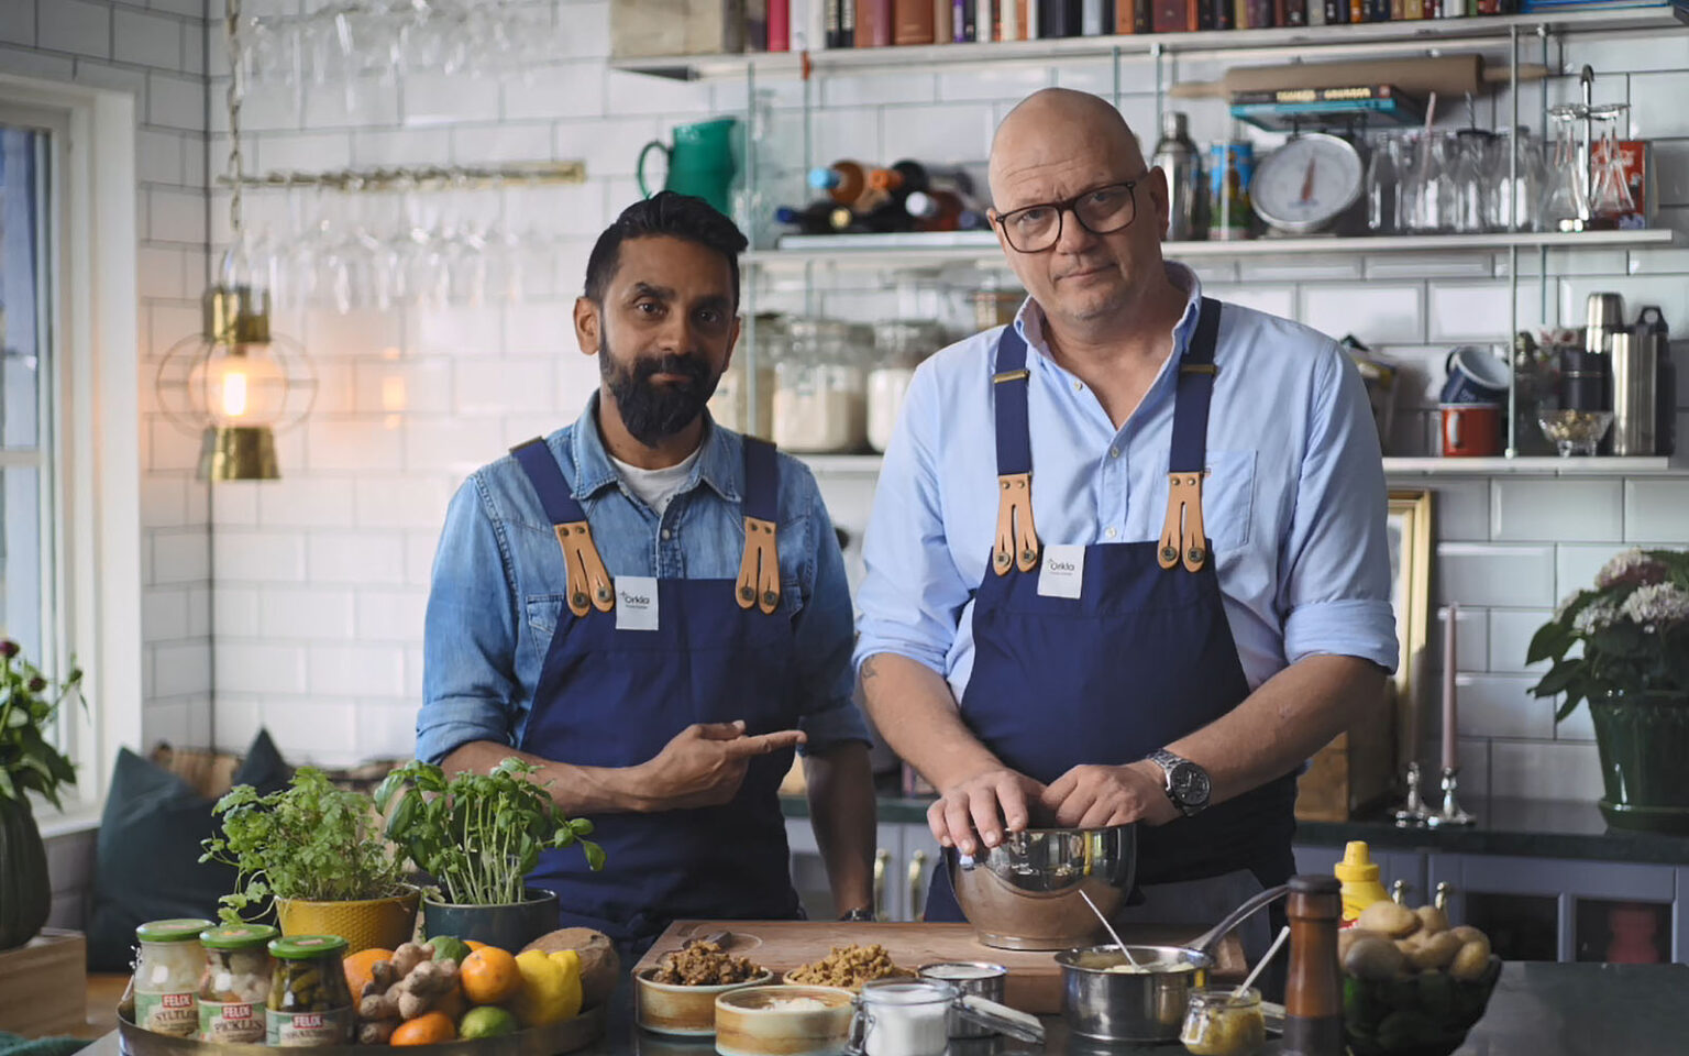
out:
{"label": "tall brown wooden pepper grinder beside the mustard jar", "polygon": [[1290,877],[1290,972],[1284,992],[1284,1056],[1343,1056],[1343,977],[1336,877]]}

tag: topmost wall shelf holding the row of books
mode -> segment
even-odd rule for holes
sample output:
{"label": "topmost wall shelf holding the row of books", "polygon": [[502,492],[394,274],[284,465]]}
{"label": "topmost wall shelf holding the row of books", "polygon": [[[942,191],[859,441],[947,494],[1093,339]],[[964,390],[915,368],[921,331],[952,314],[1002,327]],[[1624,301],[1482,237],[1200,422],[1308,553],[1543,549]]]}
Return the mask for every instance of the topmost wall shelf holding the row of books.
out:
{"label": "topmost wall shelf holding the row of books", "polygon": [[[701,81],[752,74],[758,79],[812,74],[850,76],[895,69],[966,69],[1005,64],[1047,66],[1086,57],[1140,57],[1152,54],[1206,54],[1214,57],[1309,49],[1355,54],[1388,54],[1436,47],[1439,51],[1505,44],[1513,27],[1574,32],[1659,30],[1689,22],[1681,3],[1652,3],[1613,10],[1551,10],[1485,19],[1426,19],[1366,22],[1358,25],[1307,25],[1294,29],[1235,29],[1225,32],[1145,34],[1125,37],[1056,37],[990,44],[926,44],[917,47],[843,47],[811,52],[777,51],[711,56],[657,56],[611,59],[611,69],[647,76]],[[807,61],[807,69],[806,69]]]}

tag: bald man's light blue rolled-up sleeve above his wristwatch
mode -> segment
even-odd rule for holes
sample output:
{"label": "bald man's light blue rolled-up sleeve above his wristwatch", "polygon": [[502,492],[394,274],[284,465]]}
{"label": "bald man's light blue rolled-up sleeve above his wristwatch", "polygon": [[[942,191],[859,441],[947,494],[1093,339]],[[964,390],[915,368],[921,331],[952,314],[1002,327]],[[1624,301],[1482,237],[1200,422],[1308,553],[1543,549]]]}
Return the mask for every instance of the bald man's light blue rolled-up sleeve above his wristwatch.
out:
{"label": "bald man's light blue rolled-up sleeve above his wristwatch", "polygon": [[1388,492],[1360,373],[1336,345],[1317,365],[1295,510],[1280,547],[1284,654],[1397,666]]}

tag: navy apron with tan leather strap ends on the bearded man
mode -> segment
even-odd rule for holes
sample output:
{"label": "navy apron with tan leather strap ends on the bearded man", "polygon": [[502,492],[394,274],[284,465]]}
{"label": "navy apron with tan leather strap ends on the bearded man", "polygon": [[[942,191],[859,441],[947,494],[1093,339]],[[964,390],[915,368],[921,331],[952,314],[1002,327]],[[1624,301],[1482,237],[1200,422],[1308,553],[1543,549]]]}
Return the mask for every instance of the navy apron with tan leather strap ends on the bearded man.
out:
{"label": "navy apron with tan leather strap ends on the bearded man", "polygon": [[[589,422],[578,426],[591,429]],[[779,463],[745,438],[745,568],[740,580],[659,580],[659,629],[618,630],[586,512],[544,441],[512,451],[557,529],[568,595],[519,745],[544,759],[632,767],[691,723],[745,720],[747,733],[797,723],[790,613],[779,610]],[[723,542],[726,544],[726,542]],[[649,944],[674,919],[792,919],[785,819],[777,792],[792,750],[757,757],[718,808],[593,818],[603,872],[579,848],[540,855],[529,885],[557,894],[559,928]]]}

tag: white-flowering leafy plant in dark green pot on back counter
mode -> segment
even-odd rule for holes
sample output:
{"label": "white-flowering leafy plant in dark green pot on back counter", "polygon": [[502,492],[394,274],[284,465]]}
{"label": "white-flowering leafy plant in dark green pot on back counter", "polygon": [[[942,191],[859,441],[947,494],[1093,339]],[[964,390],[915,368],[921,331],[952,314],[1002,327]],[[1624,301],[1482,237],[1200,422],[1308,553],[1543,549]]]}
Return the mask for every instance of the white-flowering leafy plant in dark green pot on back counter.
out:
{"label": "white-flowering leafy plant in dark green pot on back counter", "polygon": [[1616,828],[1689,833],[1689,552],[1630,549],[1530,640],[1554,661],[1532,693],[1589,701],[1601,813]]}

